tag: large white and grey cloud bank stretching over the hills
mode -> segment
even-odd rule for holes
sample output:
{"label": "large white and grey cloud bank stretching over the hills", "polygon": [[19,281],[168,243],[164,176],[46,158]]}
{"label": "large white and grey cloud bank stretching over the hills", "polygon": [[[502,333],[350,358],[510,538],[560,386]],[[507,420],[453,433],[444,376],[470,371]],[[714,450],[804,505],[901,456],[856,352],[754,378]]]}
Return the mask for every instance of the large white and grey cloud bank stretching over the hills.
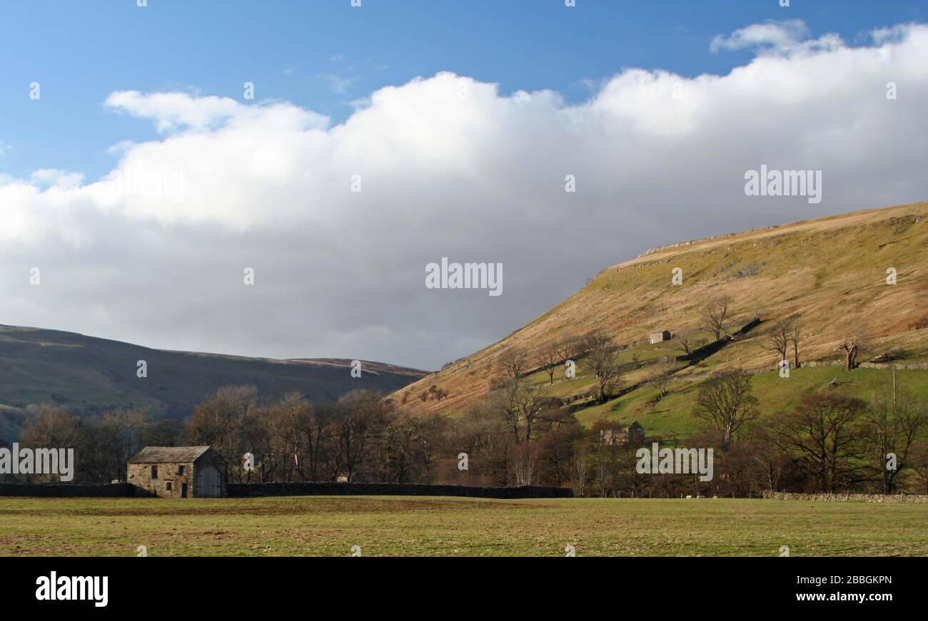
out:
{"label": "large white and grey cloud bank stretching over the hills", "polygon": [[[625,70],[575,105],[452,73],[382,88],[337,126],[286,102],[114,93],[165,134],[121,144],[107,179],[0,179],[0,315],[438,367],[647,247],[924,199],[928,27],[872,47],[750,28],[728,39],[793,52],[725,76]],[[762,163],[823,171],[822,202],[744,196]],[[505,294],[427,290],[442,257],[504,263]]]}

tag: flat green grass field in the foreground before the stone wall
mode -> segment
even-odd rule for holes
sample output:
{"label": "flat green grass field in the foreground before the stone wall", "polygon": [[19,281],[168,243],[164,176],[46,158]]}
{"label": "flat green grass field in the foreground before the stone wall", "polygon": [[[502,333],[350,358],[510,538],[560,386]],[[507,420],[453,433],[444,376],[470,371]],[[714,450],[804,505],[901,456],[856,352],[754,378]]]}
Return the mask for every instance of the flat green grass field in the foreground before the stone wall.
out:
{"label": "flat green grass field in the foreground before the stone wall", "polygon": [[928,555],[928,504],[424,497],[0,499],[0,554]]}

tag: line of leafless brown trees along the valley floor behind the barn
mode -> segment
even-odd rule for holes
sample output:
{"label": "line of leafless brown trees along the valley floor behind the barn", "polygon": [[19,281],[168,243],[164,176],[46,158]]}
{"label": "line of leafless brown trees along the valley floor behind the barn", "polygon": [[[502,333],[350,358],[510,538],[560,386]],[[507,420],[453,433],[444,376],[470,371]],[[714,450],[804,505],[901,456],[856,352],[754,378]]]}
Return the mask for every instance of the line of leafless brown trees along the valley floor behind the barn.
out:
{"label": "line of leafless brown trees along the valley floor behind the barn", "polygon": [[[727,314],[718,311],[715,318]],[[778,323],[777,343],[794,329],[794,323]],[[553,383],[551,369],[582,361],[594,378],[591,401],[604,402],[621,392],[628,371],[616,350],[608,336],[594,331],[551,346],[541,368]],[[779,348],[777,353],[784,354]],[[417,413],[369,390],[311,403],[298,393],[268,397],[255,387],[229,386],[204,399],[186,421],[134,409],[82,418],[45,405],[26,421],[20,444],[74,448],[78,482],[124,480],[126,461],[144,446],[211,445],[229,463],[233,483],[553,485],[599,497],[928,493],[928,409],[902,391],[864,401],[826,387],[761,420],[754,375],[728,370],[699,387],[690,412],[698,433],[638,437],[612,421],[581,425],[571,404],[528,382],[529,361],[517,349],[500,356],[490,390],[458,417]],[[657,389],[655,399],[663,399],[674,361],[647,366],[644,381]],[[713,448],[713,480],[639,474],[636,451],[652,442]],[[253,470],[242,467],[245,453],[254,456]]]}

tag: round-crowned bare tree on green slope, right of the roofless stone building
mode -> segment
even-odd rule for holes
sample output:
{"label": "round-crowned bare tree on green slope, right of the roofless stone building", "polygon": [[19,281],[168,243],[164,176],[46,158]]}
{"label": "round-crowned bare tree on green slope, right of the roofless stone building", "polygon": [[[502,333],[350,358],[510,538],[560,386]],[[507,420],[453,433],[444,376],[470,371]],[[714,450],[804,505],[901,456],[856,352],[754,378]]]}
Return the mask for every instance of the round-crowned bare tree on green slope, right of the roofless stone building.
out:
{"label": "round-crowned bare tree on green slope, right of the roofless stone building", "polygon": [[693,415],[718,434],[722,448],[757,418],[757,399],[751,394],[751,374],[736,369],[713,374],[702,385]]}

